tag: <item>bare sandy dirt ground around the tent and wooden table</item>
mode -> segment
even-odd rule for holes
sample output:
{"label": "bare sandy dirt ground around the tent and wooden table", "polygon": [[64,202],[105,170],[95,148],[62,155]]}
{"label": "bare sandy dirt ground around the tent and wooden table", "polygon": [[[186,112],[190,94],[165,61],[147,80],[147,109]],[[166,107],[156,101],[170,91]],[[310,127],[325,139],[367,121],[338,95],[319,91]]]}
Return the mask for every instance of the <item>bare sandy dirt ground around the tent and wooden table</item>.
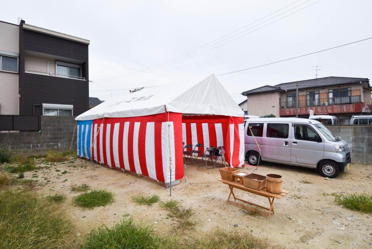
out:
{"label": "bare sandy dirt ground around the tent and wooden table", "polygon": [[[283,176],[283,189],[290,193],[275,201],[275,214],[269,220],[263,215],[246,214],[240,207],[226,204],[229,188],[217,181],[220,178],[218,168],[207,170],[205,167],[198,168],[197,164],[188,165],[186,182],[185,179],[181,180],[179,185],[172,188],[172,196],[169,196],[169,190],[153,180],[94,165],[95,170],[92,163],[73,159],[49,164],[36,173],[25,173],[26,179],[45,184],[39,187],[39,192],[46,195],[58,192],[67,196],[67,201],[62,205],[77,226],[77,236],[89,233],[92,228],[102,224],[110,226],[128,215],[136,221],[152,224],[160,233],[170,231],[173,221],[167,219],[166,212],[159,204],[150,207],[136,205],[131,198],[139,193],[155,193],[161,201],[176,199],[183,206],[195,210],[198,223],[195,230],[186,233],[198,234],[199,231],[219,227],[237,229],[237,232],[251,231],[286,248],[372,248],[372,215],[340,207],[334,202],[334,196],[330,195],[333,192],[371,193],[372,165],[353,164],[349,171],[330,180],[312,169],[272,163],[263,163],[257,170],[251,167],[241,169],[262,175],[275,173]],[[37,177],[34,175],[32,178],[32,174],[37,174]],[[312,183],[301,183],[301,180]],[[83,183],[94,189],[112,191],[115,202],[93,210],[75,207],[72,198],[77,193],[70,192],[70,187]],[[248,201],[268,205],[267,198],[241,190],[235,190],[235,194]]]}

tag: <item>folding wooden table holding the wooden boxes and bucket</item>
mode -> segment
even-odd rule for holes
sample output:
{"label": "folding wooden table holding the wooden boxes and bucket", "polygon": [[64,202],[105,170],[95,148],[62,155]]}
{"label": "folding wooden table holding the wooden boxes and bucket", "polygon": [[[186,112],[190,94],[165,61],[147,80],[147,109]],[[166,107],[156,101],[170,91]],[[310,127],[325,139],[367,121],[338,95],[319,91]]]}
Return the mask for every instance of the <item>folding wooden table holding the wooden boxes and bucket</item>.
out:
{"label": "folding wooden table holding the wooden boxes and bucket", "polygon": [[[230,187],[230,195],[229,195],[229,198],[227,199],[227,204],[231,203],[231,204],[238,205],[239,207],[243,207],[243,208],[250,209],[252,211],[259,212],[260,214],[266,215],[267,216],[267,219],[270,218],[271,213],[274,214],[274,207],[273,207],[273,205],[274,205],[275,198],[281,199],[283,196],[285,196],[286,194],[289,193],[289,191],[283,189],[282,190],[282,193],[280,193],[280,194],[273,194],[273,193],[267,192],[266,191],[266,187],[264,189],[262,189],[262,190],[257,190],[257,189],[251,189],[250,187],[246,187],[246,186],[244,186],[244,185],[242,185],[240,183],[230,182],[230,181],[222,180],[222,179],[218,179],[218,181],[220,181],[220,182],[222,182],[224,184],[227,184]],[[260,196],[263,196],[263,197],[266,197],[267,199],[269,199],[270,208],[263,207],[261,205],[258,205],[258,204],[255,204],[255,203],[252,203],[252,202],[249,202],[249,201],[246,201],[246,200],[237,198],[235,196],[235,194],[234,194],[234,188],[240,189],[240,190],[243,190],[243,191],[246,191],[246,192],[250,192],[250,193],[253,193],[253,194],[256,194],[256,195],[260,195]],[[231,195],[232,195],[232,197],[234,198],[235,201],[230,201]],[[240,203],[237,202],[237,200],[238,201],[245,202],[245,203],[248,203],[248,204],[251,204],[251,205],[254,205],[254,206],[259,207],[259,208],[262,208],[262,209],[266,209],[266,210],[268,210],[268,212],[264,212],[264,211],[258,210],[256,208],[251,208],[251,207],[248,207],[247,205],[240,204]]]}

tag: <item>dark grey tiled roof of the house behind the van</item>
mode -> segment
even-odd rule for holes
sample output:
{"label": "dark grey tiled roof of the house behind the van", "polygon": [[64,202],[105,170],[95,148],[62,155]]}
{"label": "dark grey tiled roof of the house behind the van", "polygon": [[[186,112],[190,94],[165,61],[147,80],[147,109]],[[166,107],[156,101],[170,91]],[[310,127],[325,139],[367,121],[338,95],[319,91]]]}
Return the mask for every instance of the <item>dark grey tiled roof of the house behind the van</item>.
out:
{"label": "dark grey tiled roof of the house behind the van", "polygon": [[355,83],[360,81],[369,81],[368,78],[349,78],[349,77],[324,77],[324,78],[317,78],[317,79],[307,79],[305,81],[294,81],[294,82],[287,82],[287,83],[280,83],[275,86],[261,86],[259,88],[254,88],[249,91],[245,91],[242,95],[253,94],[258,92],[269,92],[269,91],[288,91],[296,89],[296,84],[298,84],[298,89],[302,88],[311,88],[311,87],[318,87],[318,86],[329,86],[329,85],[340,85],[340,84],[347,84],[347,83]]}

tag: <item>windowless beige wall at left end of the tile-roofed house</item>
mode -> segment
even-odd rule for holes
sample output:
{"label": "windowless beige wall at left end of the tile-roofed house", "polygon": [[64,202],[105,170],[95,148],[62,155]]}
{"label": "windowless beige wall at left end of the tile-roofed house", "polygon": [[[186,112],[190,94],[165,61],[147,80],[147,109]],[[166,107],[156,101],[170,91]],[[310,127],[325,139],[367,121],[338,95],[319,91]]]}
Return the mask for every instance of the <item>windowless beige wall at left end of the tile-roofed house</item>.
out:
{"label": "windowless beige wall at left end of the tile-roofed house", "polygon": [[264,92],[248,95],[248,115],[264,116],[274,114],[279,117],[279,92]]}

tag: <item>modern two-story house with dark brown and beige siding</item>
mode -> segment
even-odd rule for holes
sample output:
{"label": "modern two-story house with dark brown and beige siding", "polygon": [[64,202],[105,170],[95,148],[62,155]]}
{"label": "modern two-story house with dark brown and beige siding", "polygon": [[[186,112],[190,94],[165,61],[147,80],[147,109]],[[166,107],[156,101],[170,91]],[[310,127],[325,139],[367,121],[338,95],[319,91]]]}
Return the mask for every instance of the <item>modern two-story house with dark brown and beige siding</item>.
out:
{"label": "modern two-story house with dark brown and beige siding", "polygon": [[77,116],[89,109],[90,41],[0,21],[0,114]]}

